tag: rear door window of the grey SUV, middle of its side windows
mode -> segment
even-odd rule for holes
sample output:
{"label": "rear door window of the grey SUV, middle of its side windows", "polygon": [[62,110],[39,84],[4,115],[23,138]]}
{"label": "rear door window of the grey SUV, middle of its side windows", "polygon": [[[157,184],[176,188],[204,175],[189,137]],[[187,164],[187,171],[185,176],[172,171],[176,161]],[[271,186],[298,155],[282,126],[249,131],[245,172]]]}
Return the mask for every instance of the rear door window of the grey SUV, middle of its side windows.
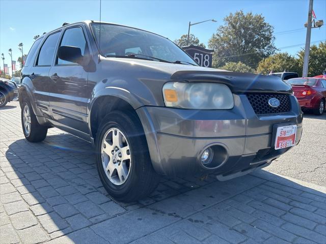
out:
{"label": "rear door window of the grey SUV, middle of its side windows", "polygon": [[55,56],[56,46],[61,32],[57,32],[48,36],[43,43],[39,52],[37,66],[51,66],[53,57]]}

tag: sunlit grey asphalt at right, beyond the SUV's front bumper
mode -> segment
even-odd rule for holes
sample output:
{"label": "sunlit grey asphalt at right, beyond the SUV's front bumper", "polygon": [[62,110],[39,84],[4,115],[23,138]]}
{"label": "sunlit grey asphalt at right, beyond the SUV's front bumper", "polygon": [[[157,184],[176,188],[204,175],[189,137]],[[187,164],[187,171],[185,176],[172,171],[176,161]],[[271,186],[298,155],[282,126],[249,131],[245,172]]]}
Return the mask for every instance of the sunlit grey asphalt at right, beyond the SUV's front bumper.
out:
{"label": "sunlit grey asphalt at right, beyond the SUV's front bumper", "polygon": [[305,114],[300,143],[265,170],[326,186],[326,112]]}

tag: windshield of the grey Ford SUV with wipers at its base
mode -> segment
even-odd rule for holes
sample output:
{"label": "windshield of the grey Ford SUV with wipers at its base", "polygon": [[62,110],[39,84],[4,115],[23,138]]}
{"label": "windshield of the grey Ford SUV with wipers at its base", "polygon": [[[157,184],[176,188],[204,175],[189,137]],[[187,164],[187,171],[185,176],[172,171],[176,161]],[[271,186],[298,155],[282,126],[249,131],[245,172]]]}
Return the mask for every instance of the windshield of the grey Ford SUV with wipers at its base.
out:
{"label": "windshield of the grey Ford SUV with wipers at its base", "polygon": [[[97,44],[99,42],[99,30],[101,26],[101,43],[98,46],[104,56],[139,57],[154,61],[159,61],[159,59],[161,59],[171,63],[179,61],[182,62],[182,64],[189,65],[188,63],[190,63],[198,66],[198,64],[176,44],[164,37],[141,31],[140,29],[114,24],[101,23],[100,25],[99,23],[92,23],[91,26]],[[151,57],[153,57],[153,59]]]}

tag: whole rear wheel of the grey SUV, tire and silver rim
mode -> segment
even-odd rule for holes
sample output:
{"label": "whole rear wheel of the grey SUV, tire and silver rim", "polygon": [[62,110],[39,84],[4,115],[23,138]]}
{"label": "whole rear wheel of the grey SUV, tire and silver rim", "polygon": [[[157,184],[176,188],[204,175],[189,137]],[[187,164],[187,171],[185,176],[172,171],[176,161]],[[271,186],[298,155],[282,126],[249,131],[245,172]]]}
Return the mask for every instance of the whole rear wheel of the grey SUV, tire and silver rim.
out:
{"label": "whole rear wheel of the grey SUV, tire and silver rim", "polygon": [[21,106],[21,126],[26,140],[30,142],[43,141],[47,134],[47,127],[41,126],[28,101]]}

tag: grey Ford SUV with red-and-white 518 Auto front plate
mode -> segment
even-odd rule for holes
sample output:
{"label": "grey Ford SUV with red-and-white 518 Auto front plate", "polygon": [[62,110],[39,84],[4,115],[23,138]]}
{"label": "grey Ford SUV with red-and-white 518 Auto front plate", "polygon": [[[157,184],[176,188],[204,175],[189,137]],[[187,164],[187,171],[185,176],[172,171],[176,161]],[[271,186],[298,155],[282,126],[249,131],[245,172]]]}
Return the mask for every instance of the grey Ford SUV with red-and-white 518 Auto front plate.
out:
{"label": "grey Ford SUV with red-and-white 518 Auto front plate", "polygon": [[279,78],[199,67],[167,38],[95,21],[35,41],[19,101],[27,140],[55,126],[89,141],[103,186],[120,201],[147,196],[158,174],[252,172],[302,133],[300,106]]}

